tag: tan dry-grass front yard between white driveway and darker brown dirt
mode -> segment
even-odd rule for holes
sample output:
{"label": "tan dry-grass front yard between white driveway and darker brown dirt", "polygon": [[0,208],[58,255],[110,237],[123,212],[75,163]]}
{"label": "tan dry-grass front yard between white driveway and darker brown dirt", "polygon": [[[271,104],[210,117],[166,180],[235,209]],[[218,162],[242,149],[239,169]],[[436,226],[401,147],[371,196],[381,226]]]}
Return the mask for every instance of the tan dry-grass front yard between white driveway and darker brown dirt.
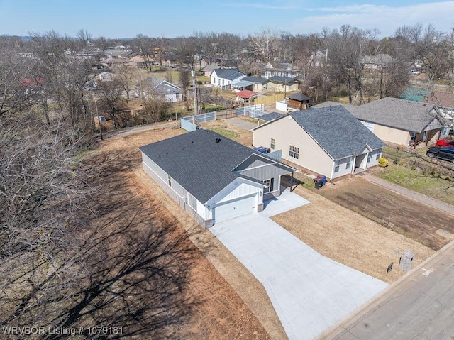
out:
{"label": "tan dry-grass front yard between white driveway and darker brown dirt", "polygon": [[[331,190],[335,189],[326,186],[313,192],[298,185],[294,192],[310,203],[272,219],[323,256],[387,283],[405,274],[398,269],[403,251],[415,254],[414,265],[434,253],[421,243],[323,197]],[[394,269],[387,274],[391,263]]]}

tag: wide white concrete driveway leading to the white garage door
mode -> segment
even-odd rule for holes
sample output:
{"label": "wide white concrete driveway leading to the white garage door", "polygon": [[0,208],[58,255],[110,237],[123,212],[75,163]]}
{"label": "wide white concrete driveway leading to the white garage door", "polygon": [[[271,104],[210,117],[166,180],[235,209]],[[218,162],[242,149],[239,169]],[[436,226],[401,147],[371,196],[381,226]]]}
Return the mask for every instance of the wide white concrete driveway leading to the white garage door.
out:
{"label": "wide white concrete driveway leading to the white garage door", "polygon": [[[314,339],[387,287],[321,256],[269,216],[309,203],[288,190],[210,230],[264,285],[289,339]],[[323,218],[323,216],[320,216]],[[310,228],[301,221],[301,228]],[[367,256],[367,254],[365,254]]]}

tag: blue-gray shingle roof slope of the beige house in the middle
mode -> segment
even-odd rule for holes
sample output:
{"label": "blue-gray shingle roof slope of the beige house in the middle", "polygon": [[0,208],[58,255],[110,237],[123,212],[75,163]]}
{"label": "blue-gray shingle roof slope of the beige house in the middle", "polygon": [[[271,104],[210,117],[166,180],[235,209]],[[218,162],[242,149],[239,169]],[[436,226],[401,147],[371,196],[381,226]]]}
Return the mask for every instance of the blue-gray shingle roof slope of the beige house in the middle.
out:
{"label": "blue-gray shingle roof slope of the beige house in the middle", "polygon": [[309,109],[290,113],[333,159],[360,155],[364,148],[372,150],[385,144],[343,106]]}

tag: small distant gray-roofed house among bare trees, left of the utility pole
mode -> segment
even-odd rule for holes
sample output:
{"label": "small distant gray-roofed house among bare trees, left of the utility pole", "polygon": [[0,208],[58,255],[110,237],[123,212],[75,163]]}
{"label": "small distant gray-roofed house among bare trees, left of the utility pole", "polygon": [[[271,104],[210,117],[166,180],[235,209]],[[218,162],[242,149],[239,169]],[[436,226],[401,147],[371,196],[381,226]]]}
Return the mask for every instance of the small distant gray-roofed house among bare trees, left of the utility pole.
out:
{"label": "small distant gray-roofed house among bare trees, left of the utility pole", "polygon": [[135,85],[136,97],[164,97],[167,102],[182,102],[182,89],[162,79],[148,77],[143,84]]}

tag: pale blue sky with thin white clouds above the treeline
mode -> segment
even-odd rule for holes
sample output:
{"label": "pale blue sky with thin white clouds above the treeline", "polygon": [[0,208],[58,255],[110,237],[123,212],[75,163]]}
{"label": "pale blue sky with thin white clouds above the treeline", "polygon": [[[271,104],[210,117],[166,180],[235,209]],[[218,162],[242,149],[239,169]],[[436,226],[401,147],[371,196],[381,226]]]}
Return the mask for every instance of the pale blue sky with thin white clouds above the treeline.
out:
{"label": "pale blue sky with thin white clouds above the treeline", "polygon": [[246,37],[264,28],[296,34],[350,24],[390,36],[399,26],[432,24],[450,34],[454,1],[427,0],[0,0],[0,35],[55,31],[93,38],[187,37],[196,32]]}

